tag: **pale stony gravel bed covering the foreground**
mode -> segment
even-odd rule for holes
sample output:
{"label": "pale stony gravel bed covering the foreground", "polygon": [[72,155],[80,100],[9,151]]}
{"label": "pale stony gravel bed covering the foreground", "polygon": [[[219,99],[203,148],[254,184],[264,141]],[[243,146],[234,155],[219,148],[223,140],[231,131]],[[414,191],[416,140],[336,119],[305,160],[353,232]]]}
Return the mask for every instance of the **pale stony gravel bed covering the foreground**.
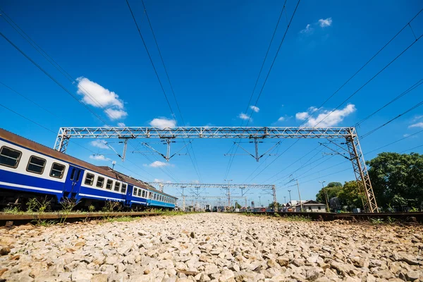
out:
{"label": "pale stony gravel bed covering the foreground", "polygon": [[423,281],[422,226],[240,214],[0,229],[0,281]]}

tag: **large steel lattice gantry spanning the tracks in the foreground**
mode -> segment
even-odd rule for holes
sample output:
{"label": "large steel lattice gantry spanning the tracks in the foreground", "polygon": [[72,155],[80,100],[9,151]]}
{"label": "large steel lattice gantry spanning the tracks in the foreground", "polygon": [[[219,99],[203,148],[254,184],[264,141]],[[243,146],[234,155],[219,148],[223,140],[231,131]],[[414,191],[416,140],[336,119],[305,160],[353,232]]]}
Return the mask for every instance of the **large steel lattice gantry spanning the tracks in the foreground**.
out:
{"label": "large steel lattice gantry spanning the tracks in the foreground", "polygon": [[[348,159],[353,164],[355,178],[367,200],[364,203],[364,209],[367,212],[379,212],[354,127],[68,127],[59,129],[54,149],[66,152],[70,138],[118,138],[124,141],[135,138],[159,138],[161,140],[175,138],[244,138],[254,141],[265,138],[343,139],[348,147],[350,154]],[[170,143],[167,143],[168,146],[170,146]]]}

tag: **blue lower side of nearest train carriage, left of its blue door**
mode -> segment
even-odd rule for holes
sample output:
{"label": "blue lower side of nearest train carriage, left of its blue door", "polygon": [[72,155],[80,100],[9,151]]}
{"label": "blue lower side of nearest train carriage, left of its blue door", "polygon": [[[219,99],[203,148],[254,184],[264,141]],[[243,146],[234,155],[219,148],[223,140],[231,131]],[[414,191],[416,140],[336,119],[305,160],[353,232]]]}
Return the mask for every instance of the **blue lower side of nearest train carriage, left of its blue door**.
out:
{"label": "blue lower side of nearest train carriage, left of its blue door", "polygon": [[[39,178],[22,173],[4,171],[0,169],[0,187],[5,189],[20,190],[24,192],[37,192],[61,196],[64,183],[55,180]],[[7,183],[7,184],[4,184]],[[20,187],[26,186],[26,187]],[[60,197],[59,197],[60,199]]]}

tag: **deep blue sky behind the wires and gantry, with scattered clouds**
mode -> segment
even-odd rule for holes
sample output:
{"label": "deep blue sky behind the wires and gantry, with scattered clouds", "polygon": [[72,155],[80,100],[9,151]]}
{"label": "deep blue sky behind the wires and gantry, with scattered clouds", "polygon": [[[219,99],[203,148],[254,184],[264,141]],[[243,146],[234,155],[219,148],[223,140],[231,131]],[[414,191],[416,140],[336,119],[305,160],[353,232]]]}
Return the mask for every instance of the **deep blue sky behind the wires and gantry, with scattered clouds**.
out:
{"label": "deep blue sky behind the wires and gantry, with scattered clouds", "polygon": [[[314,111],[312,107],[319,106],[341,87],[423,8],[420,1],[350,3],[302,0],[264,85],[257,109],[252,111],[250,106],[255,104],[296,4],[297,1],[286,2],[286,13],[283,13],[276,31],[253,102],[247,104],[283,1],[145,1],[185,125],[240,126],[245,125],[243,114],[250,116],[252,113],[250,126],[298,126]],[[176,120],[181,125],[142,2],[132,0],[130,6],[164,83]],[[75,81],[70,82],[51,66],[4,18],[0,18],[0,31],[101,119],[92,115],[2,37],[0,82],[48,111],[0,84],[1,104],[54,133],[61,126],[172,124],[171,111],[125,1],[102,1],[99,4],[98,1],[35,3],[5,0],[0,8]],[[317,109],[307,125],[314,125],[329,114],[415,41],[415,36],[422,35],[423,13],[412,21],[411,26],[412,30],[405,28],[323,108]],[[320,125],[354,125],[422,79],[422,49],[423,43],[419,40]],[[104,107],[85,97],[81,87]],[[422,87],[361,123],[358,133],[364,135],[420,102]],[[245,112],[247,106],[249,111]],[[365,159],[372,159],[383,151],[403,152],[422,145],[422,135],[412,135],[423,129],[422,116],[423,108],[414,109],[365,137],[362,140]],[[54,133],[3,107],[0,107],[0,120],[1,127],[6,130],[49,147],[54,145]],[[371,152],[408,135],[412,137]],[[121,152],[122,145],[113,143],[116,140],[109,141]],[[260,152],[266,152],[275,145],[274,142],[269,140],[260,144]],[[295,187],[287,188],[293,183],[283,185],[291,178],[298,178],[302,199],[314,198],[321,187],[319,180],[343,182],[354,179],[351,164],[342,163],[341,156],[325,154],[330,151],[319,146],[318,140],[300,140],[284,152],[293,142],[295,140],[283,140],[274,151],[277,154],[266,156],[259,163],[249,156],[235,156],[226,178],[233,179],[233,183],[274,183],[278,187],[279,202],[284,201],[284,196],[288,198],[288,189],[293,190],[293,199],[298,198]],[[135,147],[145,150],[139,142],[131,141],[130,144],[130,151]],[[149,140],[149,144],[161,152],[166,151],[158,140]],[[250,152],[254,150],[247,142],[241,145]],[[172,149],[182,146],[183,143],[178,142]],[[195,159],[204,183],[223,182],[230,160],[224,154],[230,152],[232,146],[233,140],[193,140]],[[423,147],[413,151],[422,153]],[[237,154],[241,153],[239,149]],[[117,170],[145,180],[200,180],[188,155],[176,156],[166,164],[155,154],[128,153],[128,159],[121,162],[111,149],[104,147],[104,143],[92,144],[92,140],[71,140],[68,154],[97,165],[111,165],[110,160],[116,160]],[[300,159],[305,154],[307,156]],[[309,164],[308,160],[314,163]],[[336,173],[347,168],[350,169]],[[328,176],[331,173],[334,174]],[[174,189],[167,192],[179,193]],[[249,193],[248,198],[257,204],[259,191],[250,190]],[[221,191],[207,190],[203,195],[221,195]],[[262,204],[268,200],[271,195],[262,192]]]}

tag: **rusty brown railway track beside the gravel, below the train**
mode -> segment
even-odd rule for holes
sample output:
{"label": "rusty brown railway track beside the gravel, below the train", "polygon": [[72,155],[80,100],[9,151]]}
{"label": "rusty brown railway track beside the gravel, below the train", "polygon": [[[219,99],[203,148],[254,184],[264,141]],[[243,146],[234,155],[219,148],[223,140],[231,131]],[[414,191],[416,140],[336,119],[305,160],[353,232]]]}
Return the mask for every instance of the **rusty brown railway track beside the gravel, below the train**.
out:
{"label": "rusty brown railway track beside the gravel, below the train", "polygon": [[17,226],[26,223],[40,222],[75,222],[82,220],[109,219],[123,216],[141,217],[141,216],[159,216],[166,215],[163,212],[90,212],[90,213],[23,213],[7,214],[0,213],[0,226]]}

